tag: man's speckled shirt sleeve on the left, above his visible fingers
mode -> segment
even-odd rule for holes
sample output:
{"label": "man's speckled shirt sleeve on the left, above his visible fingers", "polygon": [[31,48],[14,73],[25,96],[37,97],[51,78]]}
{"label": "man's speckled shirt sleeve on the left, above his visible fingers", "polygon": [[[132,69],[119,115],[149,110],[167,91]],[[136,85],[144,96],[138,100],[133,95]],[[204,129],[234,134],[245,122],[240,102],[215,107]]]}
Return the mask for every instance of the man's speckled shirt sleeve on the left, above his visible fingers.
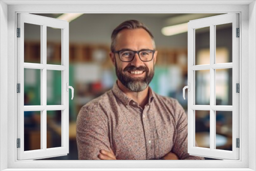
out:
{"label": "man's speckled shirt sleeve on the left, above his visible fingers", "polygon": [[101,149],[110,151],[108,126],[97,105],[83,106],[77,116],[76,140],[79,160],[99,160]]}

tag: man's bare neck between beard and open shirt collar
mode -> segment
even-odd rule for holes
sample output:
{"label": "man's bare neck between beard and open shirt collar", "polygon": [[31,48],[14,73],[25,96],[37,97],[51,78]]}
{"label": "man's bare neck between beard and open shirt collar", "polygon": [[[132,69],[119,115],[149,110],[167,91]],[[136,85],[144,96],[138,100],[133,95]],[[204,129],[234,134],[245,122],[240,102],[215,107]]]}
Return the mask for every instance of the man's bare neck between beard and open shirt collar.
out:
{"label": "man's bare neck between beard and open shirt collar", "polygon": [[144,106],[147,104],[148,96],[150,94],[148,91],[148,86],[145,90],[141,92],[133,92],[127,89],[119,80],[117,80],[117,86],[122,92],[124,92],[128,97],[132,98],[134,101],[136,101],[141,106],[141,108],[144,109]]}

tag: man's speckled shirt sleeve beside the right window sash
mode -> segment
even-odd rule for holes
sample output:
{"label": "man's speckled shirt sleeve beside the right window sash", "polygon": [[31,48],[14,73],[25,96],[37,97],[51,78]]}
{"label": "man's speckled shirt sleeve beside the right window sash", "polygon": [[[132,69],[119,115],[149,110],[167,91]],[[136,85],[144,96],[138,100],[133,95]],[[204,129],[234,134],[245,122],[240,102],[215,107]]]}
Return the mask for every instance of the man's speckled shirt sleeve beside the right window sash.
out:
{"label": "man's speckled shirt sleeve beside the right window sash", "polygon": [[187,153],[187,115],[177,100],[174,107],[177,116],[177,135],[172,149],[173,153],[178,155],[180,160],[204,160],[203,157],[190,156]]}

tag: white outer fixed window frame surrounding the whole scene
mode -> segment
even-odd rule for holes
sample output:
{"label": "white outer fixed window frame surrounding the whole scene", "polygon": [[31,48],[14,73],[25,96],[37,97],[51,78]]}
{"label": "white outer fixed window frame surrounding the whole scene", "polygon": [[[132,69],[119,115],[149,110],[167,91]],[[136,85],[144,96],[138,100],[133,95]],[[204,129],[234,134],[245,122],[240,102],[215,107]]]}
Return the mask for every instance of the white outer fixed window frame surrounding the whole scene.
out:
{"label": "white outer fixed window frame surrounding the whole scene", "polygon": [[[0,2],[0,170],[256,170],[255,1],[1,1]],[[66,3],[63,5],[61,3]],[[188,5],[189,3],[189,5]],[[26,4],[26,5],[23,5]],[[43,5],[38,5],[43,4]],[[59,5],[53,5],[59,4]],[[73,5],[70,5],[73,4]],[[125,4],[125,6],[124,6]],[[145,6],[147,8],[145,8]],[[17,161],[16,13],[240,13],[240,160],[204,161]],[[249,36],[250,35],[250,36]],[[8,71],[6,74],[6,71]],[[250,92],[249,92],[250,91]],[[7,115],[8,114],[8,115]],[[243,116],[243,117],[242,117]],[[252,130],[252,131],[249,131]],[[74,167],[74,168],[71,168]],[[19,169],[20,168],[20,169]],[[83,169],[82,169],[83,168]],[[98,168],[98,169],[90,169]],[[119,169],[118,169],[119,168]],[[144,169],[143,169],[144,168]],[[201,168],[201,169],[200,169]],[[24,170],[24,169],[23,169]],[[26,169],[28,170],[28,169]],[[127,170],[127,169],[126,169]]]}

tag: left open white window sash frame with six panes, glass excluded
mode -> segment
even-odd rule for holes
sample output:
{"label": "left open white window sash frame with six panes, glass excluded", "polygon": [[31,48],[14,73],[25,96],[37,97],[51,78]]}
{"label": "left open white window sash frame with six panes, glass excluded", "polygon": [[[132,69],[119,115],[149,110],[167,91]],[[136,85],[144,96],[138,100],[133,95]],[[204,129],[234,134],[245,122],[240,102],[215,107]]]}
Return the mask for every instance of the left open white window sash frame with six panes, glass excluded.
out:
{"label": "left open white window sash frame with six panes, glass excluded", "polygon": [[[24,62],[24,24],[40,27],[40,63]],[[47,27],[58,28],[61,31],[61,65],[47,64]],[[17,83],[20,83],[20,93],[17,94],[17,138],[20,147],[17,148],[18,160],[43,159],[64,156],[69,153],[69,23],[65,20],[44,17],[34,14],[18,13],[17,28],[20,37],[17,38]],[[40,69],[40,105],[24,106],[24,69]],[[47,105],[47,71],[61,72],[61,104]],[[69,89],[68,89],[69,90]],[[47,111],[61,111],[61,146],[47,148]],[[40,111],[40,149],[24,151],[24,111]]]}

